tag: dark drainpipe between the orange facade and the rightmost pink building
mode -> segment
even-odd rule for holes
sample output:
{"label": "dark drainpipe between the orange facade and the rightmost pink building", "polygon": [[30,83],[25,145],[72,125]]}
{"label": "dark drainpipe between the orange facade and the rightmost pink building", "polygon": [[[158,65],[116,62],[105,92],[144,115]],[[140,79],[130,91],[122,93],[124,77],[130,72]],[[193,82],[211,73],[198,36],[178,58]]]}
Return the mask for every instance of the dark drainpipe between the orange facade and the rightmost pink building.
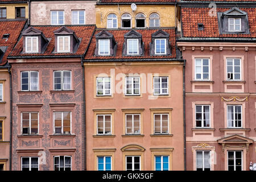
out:
{"label": "dark drainpipe between the orange facade and the rightmost pink building", "polygon": [[187,171],[186,164],[186,119],[185,119],[185,64],[183,64],[183,133],[184,133],[184,171]]}

